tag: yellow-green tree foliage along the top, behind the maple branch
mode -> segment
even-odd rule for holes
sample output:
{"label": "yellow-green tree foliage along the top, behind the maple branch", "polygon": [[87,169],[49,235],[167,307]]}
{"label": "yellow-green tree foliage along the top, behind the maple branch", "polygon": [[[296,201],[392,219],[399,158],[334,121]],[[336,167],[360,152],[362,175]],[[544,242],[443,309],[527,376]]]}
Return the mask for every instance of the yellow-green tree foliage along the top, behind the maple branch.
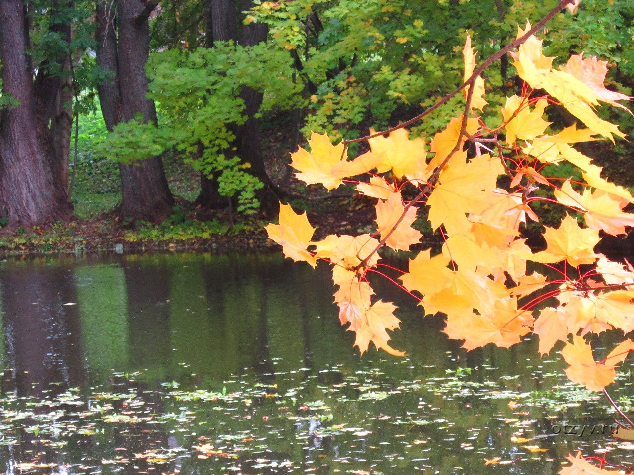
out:
{"label": "yellow-green tree foliage along the top, behind the maple branch", "polygon": [[[268,23],[280,48],[297,53],[302,63],[299,77],[315,91],[307,103],[304,132],[353,137],[368,127],[396,125],[460,84],[463,65],[458,53],[465,31],[472,36],[478,57],[486,58],[515,37],[516,25],[523,27],[527,18],[536,21],[555,4],[555,0],[256,1],[247,20]],[[563,13],[552,20],[545,53],[567,58],[585,51],[618,65],[614,78],[631,76],[633,18],[631,4],[584,0],[576,15]],[[503,62],[487,70],[489,111],[499,110],[505,89],[510,89],[506,95],[519,94],[514,91],[517,85],[509,82],[513,75],[512,66]],[[457,115],[461,105],[462,99],[456,97],[413,131],[432,136]]]}

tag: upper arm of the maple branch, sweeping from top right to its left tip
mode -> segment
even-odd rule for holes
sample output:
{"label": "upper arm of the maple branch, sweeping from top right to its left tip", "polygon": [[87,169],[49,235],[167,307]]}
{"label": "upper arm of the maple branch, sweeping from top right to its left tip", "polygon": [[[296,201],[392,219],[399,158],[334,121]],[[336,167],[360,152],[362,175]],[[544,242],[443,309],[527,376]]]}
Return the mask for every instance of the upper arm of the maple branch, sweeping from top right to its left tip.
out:
{"label": "upper arm of the maple branch, sweeping from top right to its left tip", "polygon": [[[557,3],[557,6],[555,6],[555,8],[550,10],[548,14],[544,16],[544,18],[542,18],[540,22],[536,23],[536,25],[533,28],[528,30],[521,37],[514,39],[514,41],[508,43],[507,46],[501,48],[500,51],[498,51],[497,53],[489,56],[489,58],[487,58],[484,61],[484,63],[482,63],[477,68],[475,68],[474,72],[470,75],[469,79],[465,80],[465,82],[463,82],[461,85],[456,87],[456,89],[446,94],[442,99],[437,101],[436,104],[434,104],[433,106],[431,106],[429,109],[425,110],[424,112],[418,114],[416,117],[413,117],[410,120],[406,120],[405,122],[403,122],[403,124],[395,125],[394,127],[390,127],[389,129],[381,130],[379,132],[375,132],[374,134],[370,134],[365,137],[358,137],[356,139],[344,139],[342,143],[344,144],[344,146],[347,146],[348,144],[353,144],[357,142],[365,142],[365,141],[368,141],[369,139],[373,139],[374,137],[378,137],[385,134],[389,134],[390,132],[394,132],[394,130],[403,129],[403,127],[407,127],[408,125],[411,125],[414,122],[417,122],[418,120],[422,119],[426,115],[429,115],[430,113],[435,111],[437,108],[439,108],[443,104],[446,104],[448,101],[450,101],[450,99],[453,98],[456,94],[458,94],[458,92],[462,91],[462,89],[464,89],[468,85],[472,85],[475,82],[475,79],[477,79],[477,77],[481,75],[482,72],[486,70],[486,68],[491,66],[493,63],[495,63],[495,61],[499,60],[502,56],[507,54],[509,51],[511,51],[515,47],[520,46],[527,39],[529,39],[529,37],[536,34],[536,32],[541,30],[541,28],[543,28],[546,25],[546,23],[550,22],[550,20],[552,20],[555,17],[555,15],[557,15],[557,13],[562,11],[562,9],[566,8],[567,5],[573,2],[574,0],[560,0],[559,3]],[[471,87],[470,89],[473,89],[473,88]]]}

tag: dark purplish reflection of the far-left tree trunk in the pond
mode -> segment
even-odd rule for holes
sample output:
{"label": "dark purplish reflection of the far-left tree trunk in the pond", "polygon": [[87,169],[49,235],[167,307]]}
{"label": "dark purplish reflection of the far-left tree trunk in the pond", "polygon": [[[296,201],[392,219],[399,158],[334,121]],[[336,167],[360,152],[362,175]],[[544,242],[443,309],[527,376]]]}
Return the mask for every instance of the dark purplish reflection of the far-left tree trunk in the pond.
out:
{"label": "dark purplish reflection of the far-left tree trunk in the pond", "polygon": [[[11,369],[4,372],[3,393],[54,398],[70,388],[86,384],[82,362],[81,327],[77,317],[72,269],[61,265],[44,266],[40,260],[13,263],[10,271],[0,272],[4,308],[4,345]],[[77,406],[56,409],[77,410]],[[49,407],[30,408],[46,414]],[[63,420],[64,417],[61,418]],[[37,424],[25,419],[23,426]],[[50,447],[32,432],[19,429],[18,443],[3,447],[0,460],[63,465],[67,455]],[[81,442],[77,447],[82,450]],[[6,452],[5,452],[6,450]]]}

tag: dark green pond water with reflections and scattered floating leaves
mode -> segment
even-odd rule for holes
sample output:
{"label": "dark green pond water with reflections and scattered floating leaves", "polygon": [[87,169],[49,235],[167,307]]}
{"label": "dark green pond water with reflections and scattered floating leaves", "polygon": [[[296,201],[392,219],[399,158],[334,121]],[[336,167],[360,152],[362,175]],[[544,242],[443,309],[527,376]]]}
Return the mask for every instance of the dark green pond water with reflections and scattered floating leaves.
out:
{"label": "dark green pond water with reflections and scattered floating leaves", "polygon": [[[550,474],[577,449],[631,463],[630,443],[557,433],[614,414],[536,341],[467,353],[384,287],[407,356],[360,356],[326,266],[27,258],[0,263],[0,291],[0,473]],[[613,396],[630,408],[629,376]]]}

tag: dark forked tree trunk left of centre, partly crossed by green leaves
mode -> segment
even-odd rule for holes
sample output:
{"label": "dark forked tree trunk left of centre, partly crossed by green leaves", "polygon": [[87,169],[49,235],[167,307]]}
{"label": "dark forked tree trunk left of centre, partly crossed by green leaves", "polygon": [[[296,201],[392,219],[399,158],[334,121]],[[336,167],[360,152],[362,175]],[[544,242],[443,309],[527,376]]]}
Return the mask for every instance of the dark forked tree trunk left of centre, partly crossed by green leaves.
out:
{"label": "dark forked tree trunk left of centre, partly crossed by green leaves", "polygon": [[[148,89],[145,63],[150,53],[147,4],[140,0],[118,0],[115,20],[110,2],[98,0],[97,63],[113,75],[98,87],[101,111],[109,130],[138,113],[143,122],[157,120],[153,101],[145,97]],[[119,170],[123,217],[158,222],[171,213],[174,197],[160,156],[131,165],[120,164]]]}

